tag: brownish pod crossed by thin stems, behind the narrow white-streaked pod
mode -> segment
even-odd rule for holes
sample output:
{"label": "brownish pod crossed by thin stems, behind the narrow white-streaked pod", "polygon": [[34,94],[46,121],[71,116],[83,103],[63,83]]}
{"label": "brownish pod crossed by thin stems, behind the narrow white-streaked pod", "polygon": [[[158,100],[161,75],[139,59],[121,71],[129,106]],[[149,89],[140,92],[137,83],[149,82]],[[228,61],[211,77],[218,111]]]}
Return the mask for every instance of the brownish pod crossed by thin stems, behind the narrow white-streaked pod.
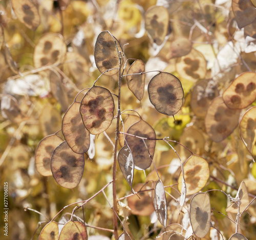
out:
{"label": "brownish pod crossed by thin stems, behind the narrow white-streaked pod", "polygon": [[[128,129],[127,133],[144,138],[156,138],[154,129],[142,119],[133,124]],[[125,139],[132,151],[135,169],[147,169],[147,167],[151,165],[155,153],[156,140],[143,140],[130,135],[126,135]],[[151,155],[152,158],[149,155]]]}

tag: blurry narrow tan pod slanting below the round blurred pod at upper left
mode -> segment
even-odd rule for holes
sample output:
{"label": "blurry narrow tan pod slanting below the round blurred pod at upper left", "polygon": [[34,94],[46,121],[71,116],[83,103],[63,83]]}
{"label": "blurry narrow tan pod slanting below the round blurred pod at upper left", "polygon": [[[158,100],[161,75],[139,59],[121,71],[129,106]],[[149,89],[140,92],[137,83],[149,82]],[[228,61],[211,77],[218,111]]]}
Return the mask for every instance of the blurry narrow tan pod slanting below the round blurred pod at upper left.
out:
{"label": "blurry narrow tan pod slanting below the round blurred pod at upper left", "polygon": [[61,111],[66,112],[69,108],[68,93],[61,81],[61,76],[57,71],[50,71],[49,75],[51,91],[54,98],[61,106]]}

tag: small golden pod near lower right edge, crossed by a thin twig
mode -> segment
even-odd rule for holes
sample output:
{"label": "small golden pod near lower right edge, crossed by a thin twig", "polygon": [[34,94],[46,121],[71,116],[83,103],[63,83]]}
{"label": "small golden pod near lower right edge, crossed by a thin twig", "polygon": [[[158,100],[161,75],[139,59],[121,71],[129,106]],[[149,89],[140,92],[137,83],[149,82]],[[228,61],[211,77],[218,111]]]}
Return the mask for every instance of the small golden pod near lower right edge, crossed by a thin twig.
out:
{"label": "small golden pod near lower right edge, crossed by a thin twig", "polygon": [[[244,181],[242,181],[241,184],[240,184],[236,199],[241,201],[240,211],[239,211],[240,214],[241,214],[248,207],[248,204],[250,202],[249,201],[249,196],[248,196],[248,191],[247,191],[247,188],[246,188],[246,185],[245,185]],[[226,208],[226,212],[238,213],[237,203],[232,203],[231,205],[229,205]]]}

